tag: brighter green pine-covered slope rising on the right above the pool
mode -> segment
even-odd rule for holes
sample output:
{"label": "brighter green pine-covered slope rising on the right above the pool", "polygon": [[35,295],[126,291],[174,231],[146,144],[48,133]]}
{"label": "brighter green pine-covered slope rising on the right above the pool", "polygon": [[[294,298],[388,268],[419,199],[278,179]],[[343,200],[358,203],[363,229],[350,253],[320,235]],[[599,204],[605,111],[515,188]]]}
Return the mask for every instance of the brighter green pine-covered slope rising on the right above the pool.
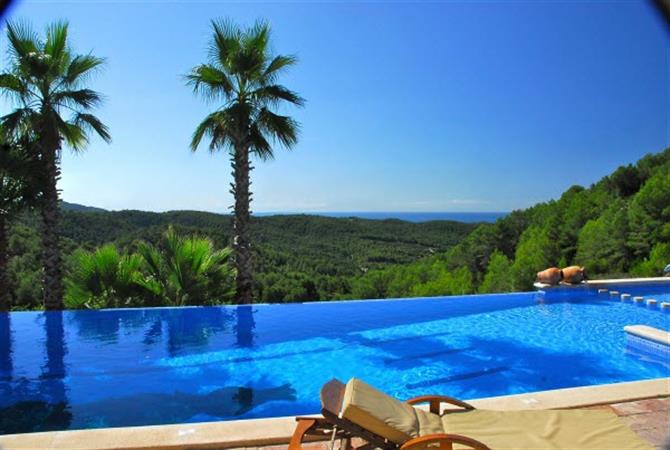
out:
{"label": "brighter green pine-covered slope rising on the right above the pool", "polygon": [[[551,170],[551,169],[547,169]],[[670,263],[670,149],[619,167],[588,189],[481,224],[452,249],[357,279],[357,298],[532,288],[537,271],[583,265],[589,276],[660,276]]]}

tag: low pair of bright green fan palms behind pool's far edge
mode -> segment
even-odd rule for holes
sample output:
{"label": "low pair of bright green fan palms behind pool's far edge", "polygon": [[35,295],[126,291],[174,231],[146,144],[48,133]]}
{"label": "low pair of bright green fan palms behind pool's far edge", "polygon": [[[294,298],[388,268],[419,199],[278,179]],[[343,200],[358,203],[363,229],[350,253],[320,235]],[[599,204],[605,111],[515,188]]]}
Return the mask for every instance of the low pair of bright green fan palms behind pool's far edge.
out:
{"label": "low pair of bright green fan palms behind pool's far edge", "polygon": [[168,228],[158,245],[141,242],[134,254],[113,245],[77,252],[65,301],[70,308],[225,303],[234,293],[229,259],[229,249]]}

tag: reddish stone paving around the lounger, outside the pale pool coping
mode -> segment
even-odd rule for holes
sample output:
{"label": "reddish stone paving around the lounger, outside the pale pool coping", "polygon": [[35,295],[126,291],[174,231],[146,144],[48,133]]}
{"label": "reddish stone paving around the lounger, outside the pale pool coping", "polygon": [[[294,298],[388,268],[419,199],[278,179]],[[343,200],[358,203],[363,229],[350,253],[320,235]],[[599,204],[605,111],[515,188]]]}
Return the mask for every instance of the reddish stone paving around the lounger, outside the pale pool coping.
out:
{"label": "reddish stone paving around the lounger, outside the pale pool coping", "polygon": [[[670,450],[670,397],[592,406],[589,409],[613,410],[642,439],[656,450]],[[338,450],[339,443],[335,449]],[[330,443],[304,444],[303,450],[331,450]],[[246,447],[233,450],[287,450],[286,445]]]}

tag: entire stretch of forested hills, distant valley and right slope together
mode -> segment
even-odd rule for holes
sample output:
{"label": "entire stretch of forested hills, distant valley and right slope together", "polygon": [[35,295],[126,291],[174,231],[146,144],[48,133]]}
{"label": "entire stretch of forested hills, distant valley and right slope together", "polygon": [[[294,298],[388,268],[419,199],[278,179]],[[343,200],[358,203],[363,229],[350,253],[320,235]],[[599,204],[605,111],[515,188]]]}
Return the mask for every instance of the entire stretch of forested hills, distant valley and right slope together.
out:
{"label": "entire stretch of forested hills, distant valley and right slope together", "polygon": [[[528,290],[538,270],[570,264],[586,266],[592,278],[658,276],[670,263],[670,149],[494,224],[307,215],[252,222],[259,301]],[[226,215],[64,208],[66,281],[90,259],[82,250],[112,244],[100,252],[103,262],[132,261],[131,252],[159,244],[170,225],[182,236],[209,238],[215,248],[230,240]],[[36,226],[26,214],[10,233],[15,309],[40,307]]]}

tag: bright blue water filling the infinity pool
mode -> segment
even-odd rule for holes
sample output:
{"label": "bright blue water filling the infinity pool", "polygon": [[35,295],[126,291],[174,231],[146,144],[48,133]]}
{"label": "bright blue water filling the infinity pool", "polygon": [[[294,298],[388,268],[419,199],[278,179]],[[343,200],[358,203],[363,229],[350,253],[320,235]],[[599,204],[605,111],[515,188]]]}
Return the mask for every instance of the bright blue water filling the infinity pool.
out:
{"label": "bright blue water filling the infinity pool", "polygon": [[670,375],[630,324],[670,314],[586,289],[0,314],[0,433],[315,413],[332,377],[467,399]]}

